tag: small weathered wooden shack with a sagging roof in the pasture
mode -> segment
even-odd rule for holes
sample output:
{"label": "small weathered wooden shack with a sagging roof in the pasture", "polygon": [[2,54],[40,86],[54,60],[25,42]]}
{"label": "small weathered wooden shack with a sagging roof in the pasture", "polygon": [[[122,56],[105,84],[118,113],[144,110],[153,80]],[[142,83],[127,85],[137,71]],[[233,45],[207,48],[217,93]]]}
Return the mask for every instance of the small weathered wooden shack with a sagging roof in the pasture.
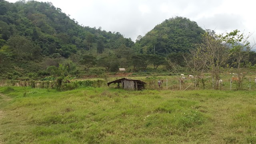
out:
{"label": "small weathered wooden shack with a sagging roof in the pasture", "polygon": [[144,89],[144,84],[146,84],[146,82],[142,82],[141,80],[130,80],[128,78],[121,78],[119,80],[108,82],[108,86],[112,83],[115,83],[115,84],[118,83],[118,87],[124,88],[127,90],[142,90]]}

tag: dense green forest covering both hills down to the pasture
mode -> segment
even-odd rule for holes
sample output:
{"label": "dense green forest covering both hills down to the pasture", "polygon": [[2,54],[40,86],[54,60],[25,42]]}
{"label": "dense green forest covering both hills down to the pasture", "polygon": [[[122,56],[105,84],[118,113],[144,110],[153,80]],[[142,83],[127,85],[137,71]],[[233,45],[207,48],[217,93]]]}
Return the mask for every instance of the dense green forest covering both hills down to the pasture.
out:
{"label": "dense green forest covering both hills down to the pasture", "polygon": [[[121,67],[137,72],[163,65],[164,70],[170,67],[166,59],[184,67],[184,56],[203,42],[204,33],[196,22],[175,17],[134,43],[119,32],[82,26],[51,2],[0,0],[0,74],[4,79],[58,76],[60,65],[76,76]],[[255,56],[250,52],[251,64]]]}

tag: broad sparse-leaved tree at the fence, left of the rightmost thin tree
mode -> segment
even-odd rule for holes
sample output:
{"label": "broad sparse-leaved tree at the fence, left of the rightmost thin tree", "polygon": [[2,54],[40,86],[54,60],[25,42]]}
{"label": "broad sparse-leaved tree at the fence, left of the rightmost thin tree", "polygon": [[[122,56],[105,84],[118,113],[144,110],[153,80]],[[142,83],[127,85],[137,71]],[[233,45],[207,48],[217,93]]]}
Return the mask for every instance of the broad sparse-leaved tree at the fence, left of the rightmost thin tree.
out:
{"label": "broad sparse-leaved tree at the fence, left of the rightmost thin tree", "polygon": [[230,57],[230,52],[221,35],[217,36],[214,31],[206,31],[202,34],[202,44],[197,49],[190,50],[189,59],[185,56],[184,58],[192,72],[198,77],[204,70],[208,70],[213,78],[213,88],[218,90],[220,73]]}

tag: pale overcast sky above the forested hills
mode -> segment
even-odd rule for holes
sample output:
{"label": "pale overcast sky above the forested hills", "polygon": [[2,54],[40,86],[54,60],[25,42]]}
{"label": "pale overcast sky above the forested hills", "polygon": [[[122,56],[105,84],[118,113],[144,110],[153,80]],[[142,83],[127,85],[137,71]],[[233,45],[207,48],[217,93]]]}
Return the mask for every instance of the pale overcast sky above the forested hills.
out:
{"label": "pale overcast sky above the forested hills", "polygon": [[[7,0],[16,2],[17,0]],[[37,0],[52,2],[83,26],[120,32],[136,40],[164,20],[189,18],[216,33],[240,30],[256,41],[254,0]]]}

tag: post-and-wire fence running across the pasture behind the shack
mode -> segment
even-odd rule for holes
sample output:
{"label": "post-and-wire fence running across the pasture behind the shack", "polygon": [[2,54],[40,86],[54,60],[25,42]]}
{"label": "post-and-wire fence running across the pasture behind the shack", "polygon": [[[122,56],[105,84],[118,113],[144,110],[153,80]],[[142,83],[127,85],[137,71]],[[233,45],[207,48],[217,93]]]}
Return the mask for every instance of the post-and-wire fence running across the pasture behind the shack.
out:
{"label": "post-and-wire fence running across the pasture behind the shack", "polygon": [[[202,81],[203,80],[203,81]],[[189,80],[175,80],[175,79],[162,79],[162,84],[158,87],[158,78],[150,80],[142,80],[146,82],[146,89],[152,90],[212,90],[216,89],[216,83],[213,82],[211,78],[205,79],[189,79]],[[107,86],[106,80],[83,80],[83,81],[72,81],[71,83],[76,83],[78,86],[82,87],[104,87]],[[31,86],[33,88],[54,88],[56,82],[54,81],[21,81],[21,80],[1,80],[0,86]],[[116,87],[115,85],[111,87]],[[218,90],[237,90],[238,82],[231,81],[230,79],[223,80],[220,83]],[[254,78],[244,78],[242,83],[243,90],[256,90],[256,84]]]}

